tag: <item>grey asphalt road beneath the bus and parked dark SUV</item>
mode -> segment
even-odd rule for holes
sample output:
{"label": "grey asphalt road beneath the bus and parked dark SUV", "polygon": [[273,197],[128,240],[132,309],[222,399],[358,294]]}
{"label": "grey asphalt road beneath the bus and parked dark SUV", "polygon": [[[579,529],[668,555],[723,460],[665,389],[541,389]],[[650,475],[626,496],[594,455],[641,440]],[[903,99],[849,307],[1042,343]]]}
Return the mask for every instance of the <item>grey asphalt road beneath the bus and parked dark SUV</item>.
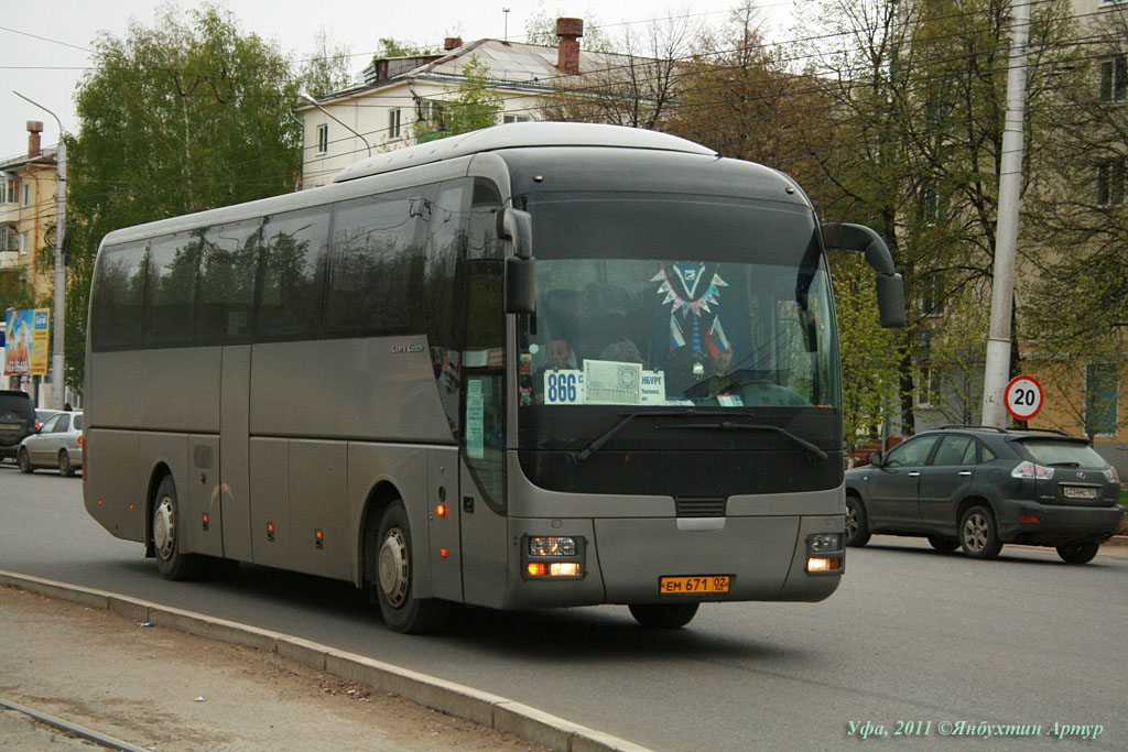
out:
{"label": "grey asphalt road beneath the bus and parked dark SUV", "polygon": [[231,583],[166,582],[139,543],[87,516],[80,480],[6,462],[0,569],[297,635],[655,750],[1128,747],[1122,548],[1069,566],[1052,550],[972,561],[878,537],[849,550],[823,603],[711,604],[659,634],[624,607],[468,609],[444,635],[408,637],[349,583],[255,566]]}

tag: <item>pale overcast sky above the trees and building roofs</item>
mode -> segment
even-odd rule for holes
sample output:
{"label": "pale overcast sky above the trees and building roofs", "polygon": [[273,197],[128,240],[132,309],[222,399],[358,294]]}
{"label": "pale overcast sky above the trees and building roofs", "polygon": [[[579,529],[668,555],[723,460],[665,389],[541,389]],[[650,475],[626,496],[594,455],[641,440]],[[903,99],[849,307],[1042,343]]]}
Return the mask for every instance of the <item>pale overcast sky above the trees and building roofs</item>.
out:
{"label": "pale overcast sky above the trees and building roofs", "polygon": [[[156,0],[0,0],[0,158],[27,149],[26,122],[43,121],[43,144],[59,140],[51,115],[16,97],[12,90],[50,108],[73,132],[76,85],[92,64],[90,43],[98,32],[124,37],[131,19],[155,23]],[[193,3],[179,2],[180,8]],[[668,15],[695,14],[719,25],[738,0],[222,0],[245,32],[274,39],[283,52],[297,56],[314,48],[314,37],[324,28],[334,45],[347,46],[354,72],[371,59],[380,37],[418,45],[441,46],[446,36],[466,41],[505,35],[520,39],[529,17],[543,11],[550,17],[576,16],[589,24],[638,23]],[[792,0],[761,0],[773,18],[785,17]],[[509,8],[505,14],[503,8]],[[508,16],[508,18],[506,18]]]}

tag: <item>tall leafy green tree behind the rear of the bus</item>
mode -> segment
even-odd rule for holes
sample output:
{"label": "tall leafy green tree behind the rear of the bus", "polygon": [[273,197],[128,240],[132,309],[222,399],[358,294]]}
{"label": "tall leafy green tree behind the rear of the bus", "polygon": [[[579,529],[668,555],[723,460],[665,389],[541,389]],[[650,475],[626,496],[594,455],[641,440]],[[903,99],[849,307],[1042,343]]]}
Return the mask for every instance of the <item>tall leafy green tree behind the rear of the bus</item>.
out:
{"label": "tall leafy green tree behind the rear of the bus", "polygon": [[293,189],[298,82],[275,45],[204,5],[95,43],[68,147],[68,383],[80,388],[92,258],[111,230]]}

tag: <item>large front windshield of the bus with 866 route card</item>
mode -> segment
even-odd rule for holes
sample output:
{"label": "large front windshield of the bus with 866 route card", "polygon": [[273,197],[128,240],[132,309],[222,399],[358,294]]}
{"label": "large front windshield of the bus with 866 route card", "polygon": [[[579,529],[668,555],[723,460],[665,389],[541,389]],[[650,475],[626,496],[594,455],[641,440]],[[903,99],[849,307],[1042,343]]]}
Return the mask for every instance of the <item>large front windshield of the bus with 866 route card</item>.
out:
{"label": "large front windshield of the bus with 866 route card", "polygon": [[838,406],[810,215],[700,197],[569,197],[530,212],[523,407]]}

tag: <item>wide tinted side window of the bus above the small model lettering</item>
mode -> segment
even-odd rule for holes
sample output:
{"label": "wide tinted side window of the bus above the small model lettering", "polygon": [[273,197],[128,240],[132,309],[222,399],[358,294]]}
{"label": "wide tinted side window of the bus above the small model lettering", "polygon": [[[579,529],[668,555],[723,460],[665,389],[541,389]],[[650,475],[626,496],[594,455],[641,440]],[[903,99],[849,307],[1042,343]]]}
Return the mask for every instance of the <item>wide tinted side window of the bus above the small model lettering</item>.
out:
{"label": "wide tinted side window of the bus above the small model lettering", "polygon": [[325,328],[331,335],[423,331],[418,192],[343,201],[333,207]]}

